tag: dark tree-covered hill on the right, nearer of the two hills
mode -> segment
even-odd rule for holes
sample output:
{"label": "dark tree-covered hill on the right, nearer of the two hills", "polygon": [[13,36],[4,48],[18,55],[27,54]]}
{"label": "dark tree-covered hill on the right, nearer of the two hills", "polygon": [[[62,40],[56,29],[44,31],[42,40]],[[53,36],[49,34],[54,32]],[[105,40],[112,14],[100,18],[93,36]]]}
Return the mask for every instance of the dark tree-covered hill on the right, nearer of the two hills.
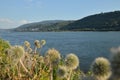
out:
{"label": "dark tree-covered hill on the right, nearer of the two hills", "polygon": [[120,11],[87,16],[61,29],[70,31],[118,31],[120,30]]}

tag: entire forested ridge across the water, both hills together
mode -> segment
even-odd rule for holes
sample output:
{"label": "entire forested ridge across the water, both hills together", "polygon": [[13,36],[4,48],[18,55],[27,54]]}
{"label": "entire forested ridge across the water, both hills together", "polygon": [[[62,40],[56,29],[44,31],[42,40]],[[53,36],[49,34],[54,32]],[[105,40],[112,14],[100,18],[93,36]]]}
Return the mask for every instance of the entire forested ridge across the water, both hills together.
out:
{"label": "entire forested ridge across the water, both hills together", "polygon": [[[32,24],[32,25],[31,25]],[[120,11],[100,13],[75,21],[31,23],[16,28],[16,31],[120,31]],[[27,26],[27,27],[25,27]]]}

